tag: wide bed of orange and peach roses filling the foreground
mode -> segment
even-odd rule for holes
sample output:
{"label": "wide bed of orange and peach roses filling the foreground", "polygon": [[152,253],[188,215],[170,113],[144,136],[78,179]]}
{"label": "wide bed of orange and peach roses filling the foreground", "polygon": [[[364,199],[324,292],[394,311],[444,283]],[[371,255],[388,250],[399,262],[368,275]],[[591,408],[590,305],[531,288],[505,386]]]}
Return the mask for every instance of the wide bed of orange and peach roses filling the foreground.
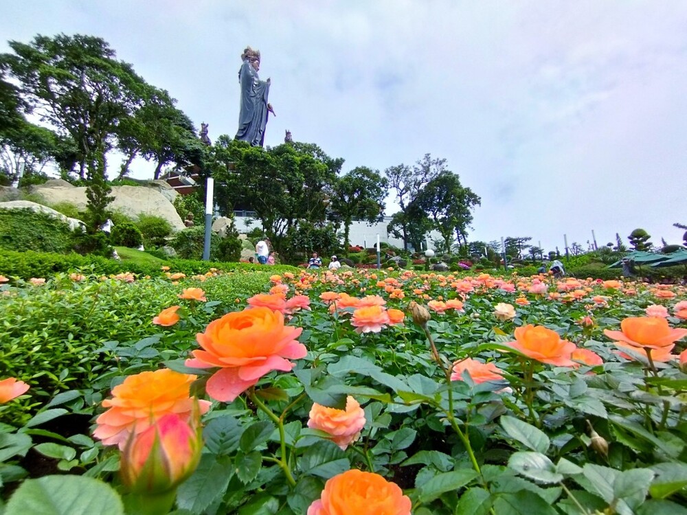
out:
{"label": "wide bed of orange and peach roses filling the foreground", "polygon": [[682,286],[168,274],[1,287],[6,513],[685,511]]}

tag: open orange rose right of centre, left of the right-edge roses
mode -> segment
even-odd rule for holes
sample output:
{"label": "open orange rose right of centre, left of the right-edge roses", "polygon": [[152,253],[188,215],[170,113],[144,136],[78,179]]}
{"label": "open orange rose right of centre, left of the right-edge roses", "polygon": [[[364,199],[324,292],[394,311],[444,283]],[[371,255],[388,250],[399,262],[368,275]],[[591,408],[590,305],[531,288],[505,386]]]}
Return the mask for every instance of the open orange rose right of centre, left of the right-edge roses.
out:
{"label": "open orange rose right of centre, left of the right-edge roses", "polygon": [[556,331],[542,325],[528,324],[517,328],[515,341],[508,342],[506,345],[541,363],[557,367],[575,366],[574,361],[570,359],[572,352],[576,349],[575,344],[561,340],[561,336]]}

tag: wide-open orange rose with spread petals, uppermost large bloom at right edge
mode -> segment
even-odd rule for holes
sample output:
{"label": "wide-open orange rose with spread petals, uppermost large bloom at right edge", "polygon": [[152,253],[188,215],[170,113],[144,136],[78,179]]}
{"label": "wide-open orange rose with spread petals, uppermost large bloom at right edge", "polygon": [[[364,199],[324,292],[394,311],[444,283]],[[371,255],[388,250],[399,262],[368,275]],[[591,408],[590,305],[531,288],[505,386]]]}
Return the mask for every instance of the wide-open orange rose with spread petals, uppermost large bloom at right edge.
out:
{"label": "wide-open orange rose with spread petals, uppermost large bloom at right edge", "polygon": [[633,347],[660,349],[672,348],[675,341],[687,336],[687,329],[671,329],[664,318],[629,317],[620,322],[620,331],[607,329],[604,334],[616,340],[616,344],[624,342]]}

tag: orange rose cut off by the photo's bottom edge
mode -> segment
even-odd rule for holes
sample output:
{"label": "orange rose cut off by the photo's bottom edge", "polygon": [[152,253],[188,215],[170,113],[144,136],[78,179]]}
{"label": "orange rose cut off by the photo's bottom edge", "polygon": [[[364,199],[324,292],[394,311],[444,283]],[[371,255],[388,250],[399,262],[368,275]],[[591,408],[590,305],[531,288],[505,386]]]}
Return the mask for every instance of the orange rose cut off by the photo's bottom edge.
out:
{"label": "orange rose cut off by the photo's bottom edge", "polygon": [[379,474],[347,470],[329,479],[307,515],[410,515],[412,504]]}

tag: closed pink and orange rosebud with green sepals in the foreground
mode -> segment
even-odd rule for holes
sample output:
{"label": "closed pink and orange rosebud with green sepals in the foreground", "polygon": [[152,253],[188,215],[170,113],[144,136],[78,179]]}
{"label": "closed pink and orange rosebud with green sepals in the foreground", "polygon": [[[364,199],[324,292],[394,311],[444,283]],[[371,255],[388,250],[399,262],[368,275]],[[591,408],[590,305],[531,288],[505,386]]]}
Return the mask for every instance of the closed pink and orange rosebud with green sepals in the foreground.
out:
{"label": "closed pink and orange rosebud with green sepals in the foreground", "polygon": [[132,492],[164,493],[185,481],[198,466],[203,437],[196,417],[168,413],[126,444],[122,482]]}

